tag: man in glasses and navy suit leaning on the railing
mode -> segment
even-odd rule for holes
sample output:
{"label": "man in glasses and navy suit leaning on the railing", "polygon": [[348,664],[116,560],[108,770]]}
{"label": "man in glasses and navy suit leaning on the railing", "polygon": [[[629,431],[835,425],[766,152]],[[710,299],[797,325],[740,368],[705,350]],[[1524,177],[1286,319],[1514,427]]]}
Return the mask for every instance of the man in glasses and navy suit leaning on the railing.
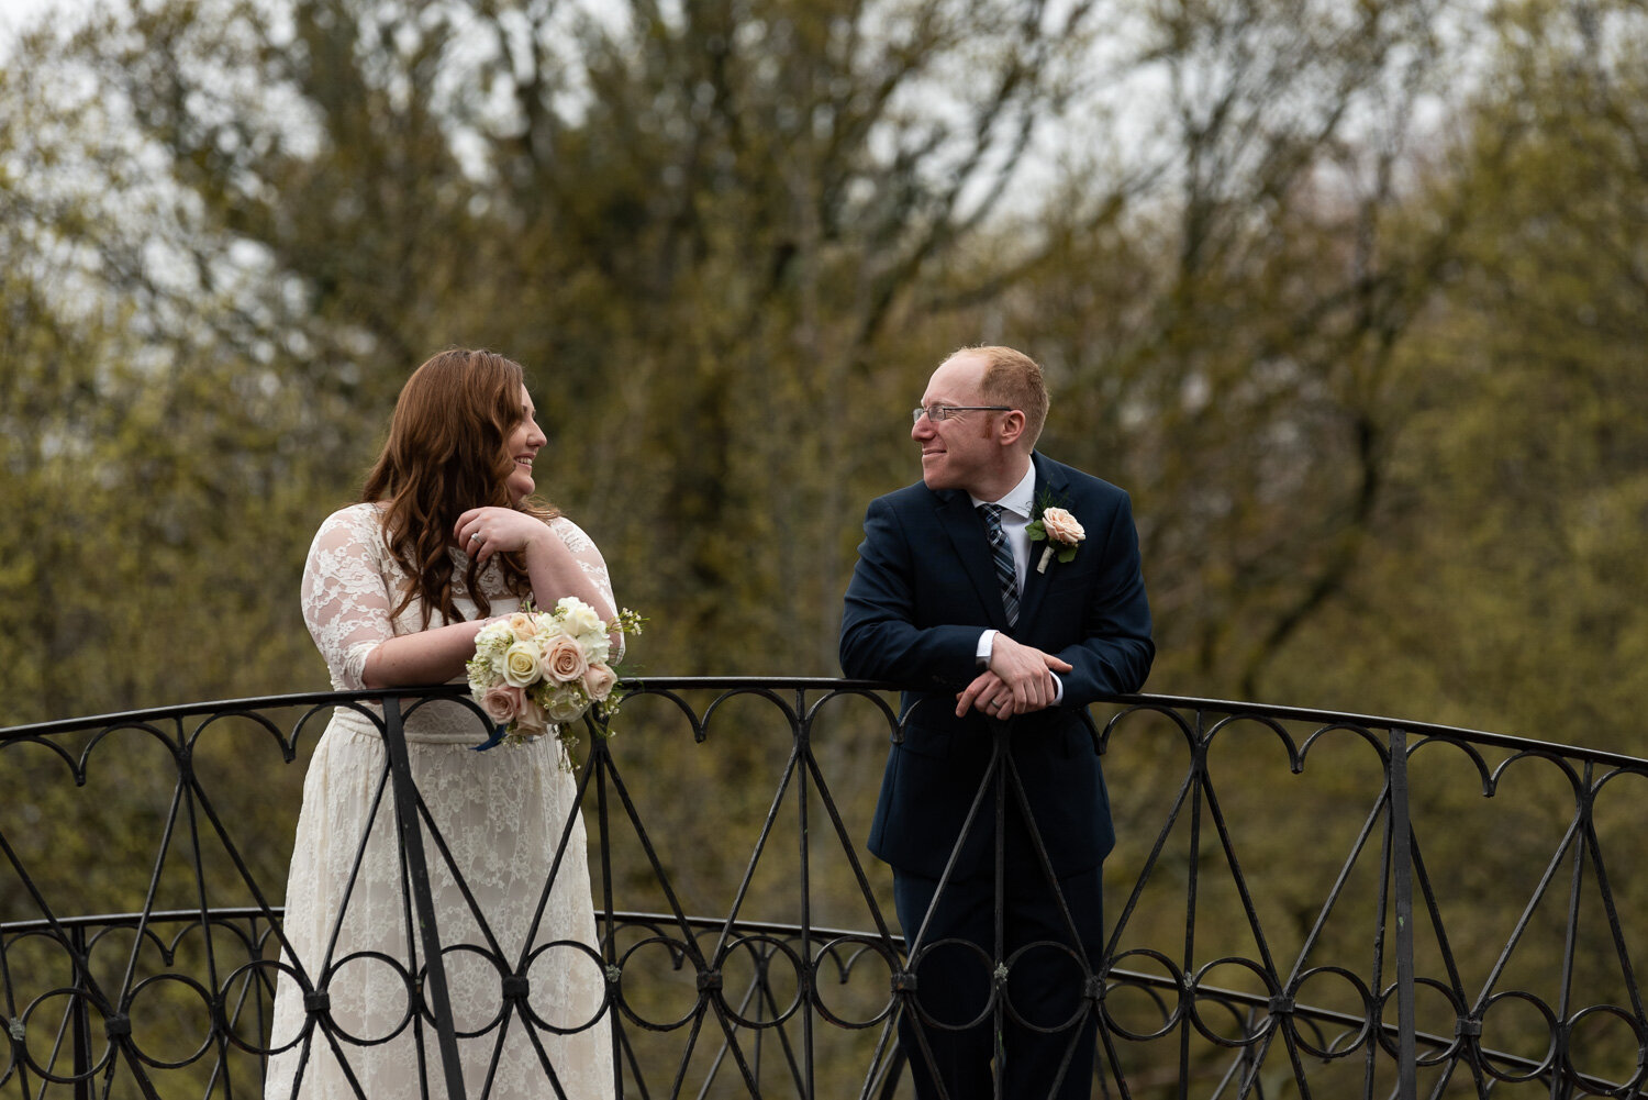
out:
{"label": "man in glasses and navy suit leaning on the railing", "polygon": [[[1086,704],[1137,691],[1155,646],[1127,495],[1033,450],[1046,407],[1042,368],[1012,348],[944,360],[910,432],[921,482],[870,503],[847,587],[842,671],[903,688],[870,851],[893,867],[916,948],[900,1041],[921,1100],[941,1095],[934,1070],[951,1100],[992,1097],[997,1039],[1010,1100],[1091,1092],[1088,975],[1103,953],[1099,866],[1114,833]],[[1048,539],[1030,538],[1033,521]],[[1014,719],[1007,744],[1030,811],[1027,823],[1009,780],[1000,928],[994,785],[962,836],[997,729],[986,719]],[[1010,1006],[999,1034],[997,983]]]}

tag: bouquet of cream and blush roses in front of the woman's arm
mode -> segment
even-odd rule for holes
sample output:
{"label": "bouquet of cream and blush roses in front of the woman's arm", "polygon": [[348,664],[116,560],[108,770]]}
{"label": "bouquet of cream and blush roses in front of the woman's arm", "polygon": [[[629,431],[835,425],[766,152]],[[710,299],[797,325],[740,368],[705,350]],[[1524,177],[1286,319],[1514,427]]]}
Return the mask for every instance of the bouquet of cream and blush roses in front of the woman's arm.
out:
{"label": "bouquet of cream and blush roses in front of the woman's arm", "polygon": [[536,610],[527,600],[519,612],[481,627],[465,668],[470,694],[496,729],[480,747],[555,734],[575,759],[572,722],[590,707],[603,719],[618,712],[621,693],[615,691],[608,635],[641,633],[643,622],[628,609],[603,622],[593,607],[567,595],[554,610]]}

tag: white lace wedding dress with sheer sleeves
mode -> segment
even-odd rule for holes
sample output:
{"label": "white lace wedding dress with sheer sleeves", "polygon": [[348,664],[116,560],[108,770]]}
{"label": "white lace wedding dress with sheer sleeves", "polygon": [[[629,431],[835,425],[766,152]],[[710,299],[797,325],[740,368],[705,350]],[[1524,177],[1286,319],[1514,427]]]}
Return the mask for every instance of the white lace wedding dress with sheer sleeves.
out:
{"label": "white lace wedding dress with sheer sleeves", "polygon": [[[588,536],[565,518],[552,526],[610,595],[606,566]],[[468,561],[456,549],[452,554],[458,581]],[[415,600],[391,620],[402,584],[376,505],[344,508],[321,524],[303,571],[303,618],[326,658],[333,688],[363,688],[366,655],[392,635],[420,628]],[[504,594],[496,571],[485,571],[481,584],[493,615],[519,605]],[[456,604],[475,617],[475,604],[465,595]],[[442,625],[438,613],[430,625]],[[371,709],[381,716],[379,707]],[[615,1093],[611,1016],[603,1009],[605,968],[575,777],[554,737],[473,752],[485,737],[483,719],[452,701],[425,703],[405,717],[419,793],[503,965],[494,965],[481,924],[424,826],[465,1095],[605,1100]],[[570,834],[562,844],[569,818]],[[565,854],[537,917],[562,848]],[[283,920],[303,971],[325,986],[326,1004],[316,1003],[316,1009],[325,1008],[333,1027],[316,1019],[305,1039],[269,1059],[265,1100],[410,1100],[425,1095],[420,1080],[428,1097],[448,1095],[430,1019],[409,1019],[407,976],[412,985],[419,981],[424,945],[410,932],[417,915],[404,882],[384,742],[371,719],[339,707],[315,747],[303,783]],[[292,958],[283,961],[292,965]],[[503,975],[516,971],[526,975],[527,1008],[542,1022],[517,1009],[504,1011]],[[270,1046],[293,1042],[307,1016],[298,983],[282,973]],[[552,1027],[582,1029],[557,1034]]]}

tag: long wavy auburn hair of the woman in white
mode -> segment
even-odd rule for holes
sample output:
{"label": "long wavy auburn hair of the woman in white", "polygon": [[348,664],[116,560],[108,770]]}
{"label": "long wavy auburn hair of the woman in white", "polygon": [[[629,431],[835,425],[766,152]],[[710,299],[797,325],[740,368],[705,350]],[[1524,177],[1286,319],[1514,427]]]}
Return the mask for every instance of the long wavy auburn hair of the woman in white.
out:
{"label": "long wavy auburn hair of the woman in white", "polygon": [[[394,613],[414,599],[424,602],[424,628],[440,609],[447,622],[463,618],[453,602],[452,529],[470,508],[496,505],[519,508],[541,519],[560,515],[554,506],[527,498],[509,500],[506,485],[514,468],[508,454],[509,432],[521,422],[521,388],[526,371],[494,351],[450,348],[412,371],[400,388],[389,439],[366,475],[363,501],[384,501],[384,543],[412,579]],[[494,557],[506,587],[531,592],[519,554]],[[481,617],[491,604],[470,561],[463,589]]]}

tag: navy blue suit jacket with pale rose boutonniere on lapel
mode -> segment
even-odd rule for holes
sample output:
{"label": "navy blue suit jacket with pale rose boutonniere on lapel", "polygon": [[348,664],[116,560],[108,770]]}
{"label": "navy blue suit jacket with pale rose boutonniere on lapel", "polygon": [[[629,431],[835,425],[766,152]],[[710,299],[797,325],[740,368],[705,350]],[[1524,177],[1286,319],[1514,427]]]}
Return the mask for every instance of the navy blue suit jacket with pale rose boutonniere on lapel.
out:
{"label": "navy blue suit jacket with pale rose boutonniere on lapel", "polygon": [[[1018,623],[1007,627],[984,519],[967,493],[915,483],[870,501],[859,564],[847,587],[840,666],[850,678],[903,688],[901,740],[895,737],[870,826],[870,851],[893,867],[938,877],[989,764],[987,721],[956,717],[956,694],[977,676],[984,628],[1053,653],[1056,707],[1020,716],[1012,752],[1055,872],[1098,866],[1114,844],[1098,737],[1086,706],[1144,686],[1155,656],[1150,607],[1139,566],[1139,534],[1127,493],[1096,477],[1032,455],[1035,500],[1066,508],[1086,529],[1073,561],[1035,566]],[[984,872],[994,858],[994,801],[967,836],[959,874]]]}

